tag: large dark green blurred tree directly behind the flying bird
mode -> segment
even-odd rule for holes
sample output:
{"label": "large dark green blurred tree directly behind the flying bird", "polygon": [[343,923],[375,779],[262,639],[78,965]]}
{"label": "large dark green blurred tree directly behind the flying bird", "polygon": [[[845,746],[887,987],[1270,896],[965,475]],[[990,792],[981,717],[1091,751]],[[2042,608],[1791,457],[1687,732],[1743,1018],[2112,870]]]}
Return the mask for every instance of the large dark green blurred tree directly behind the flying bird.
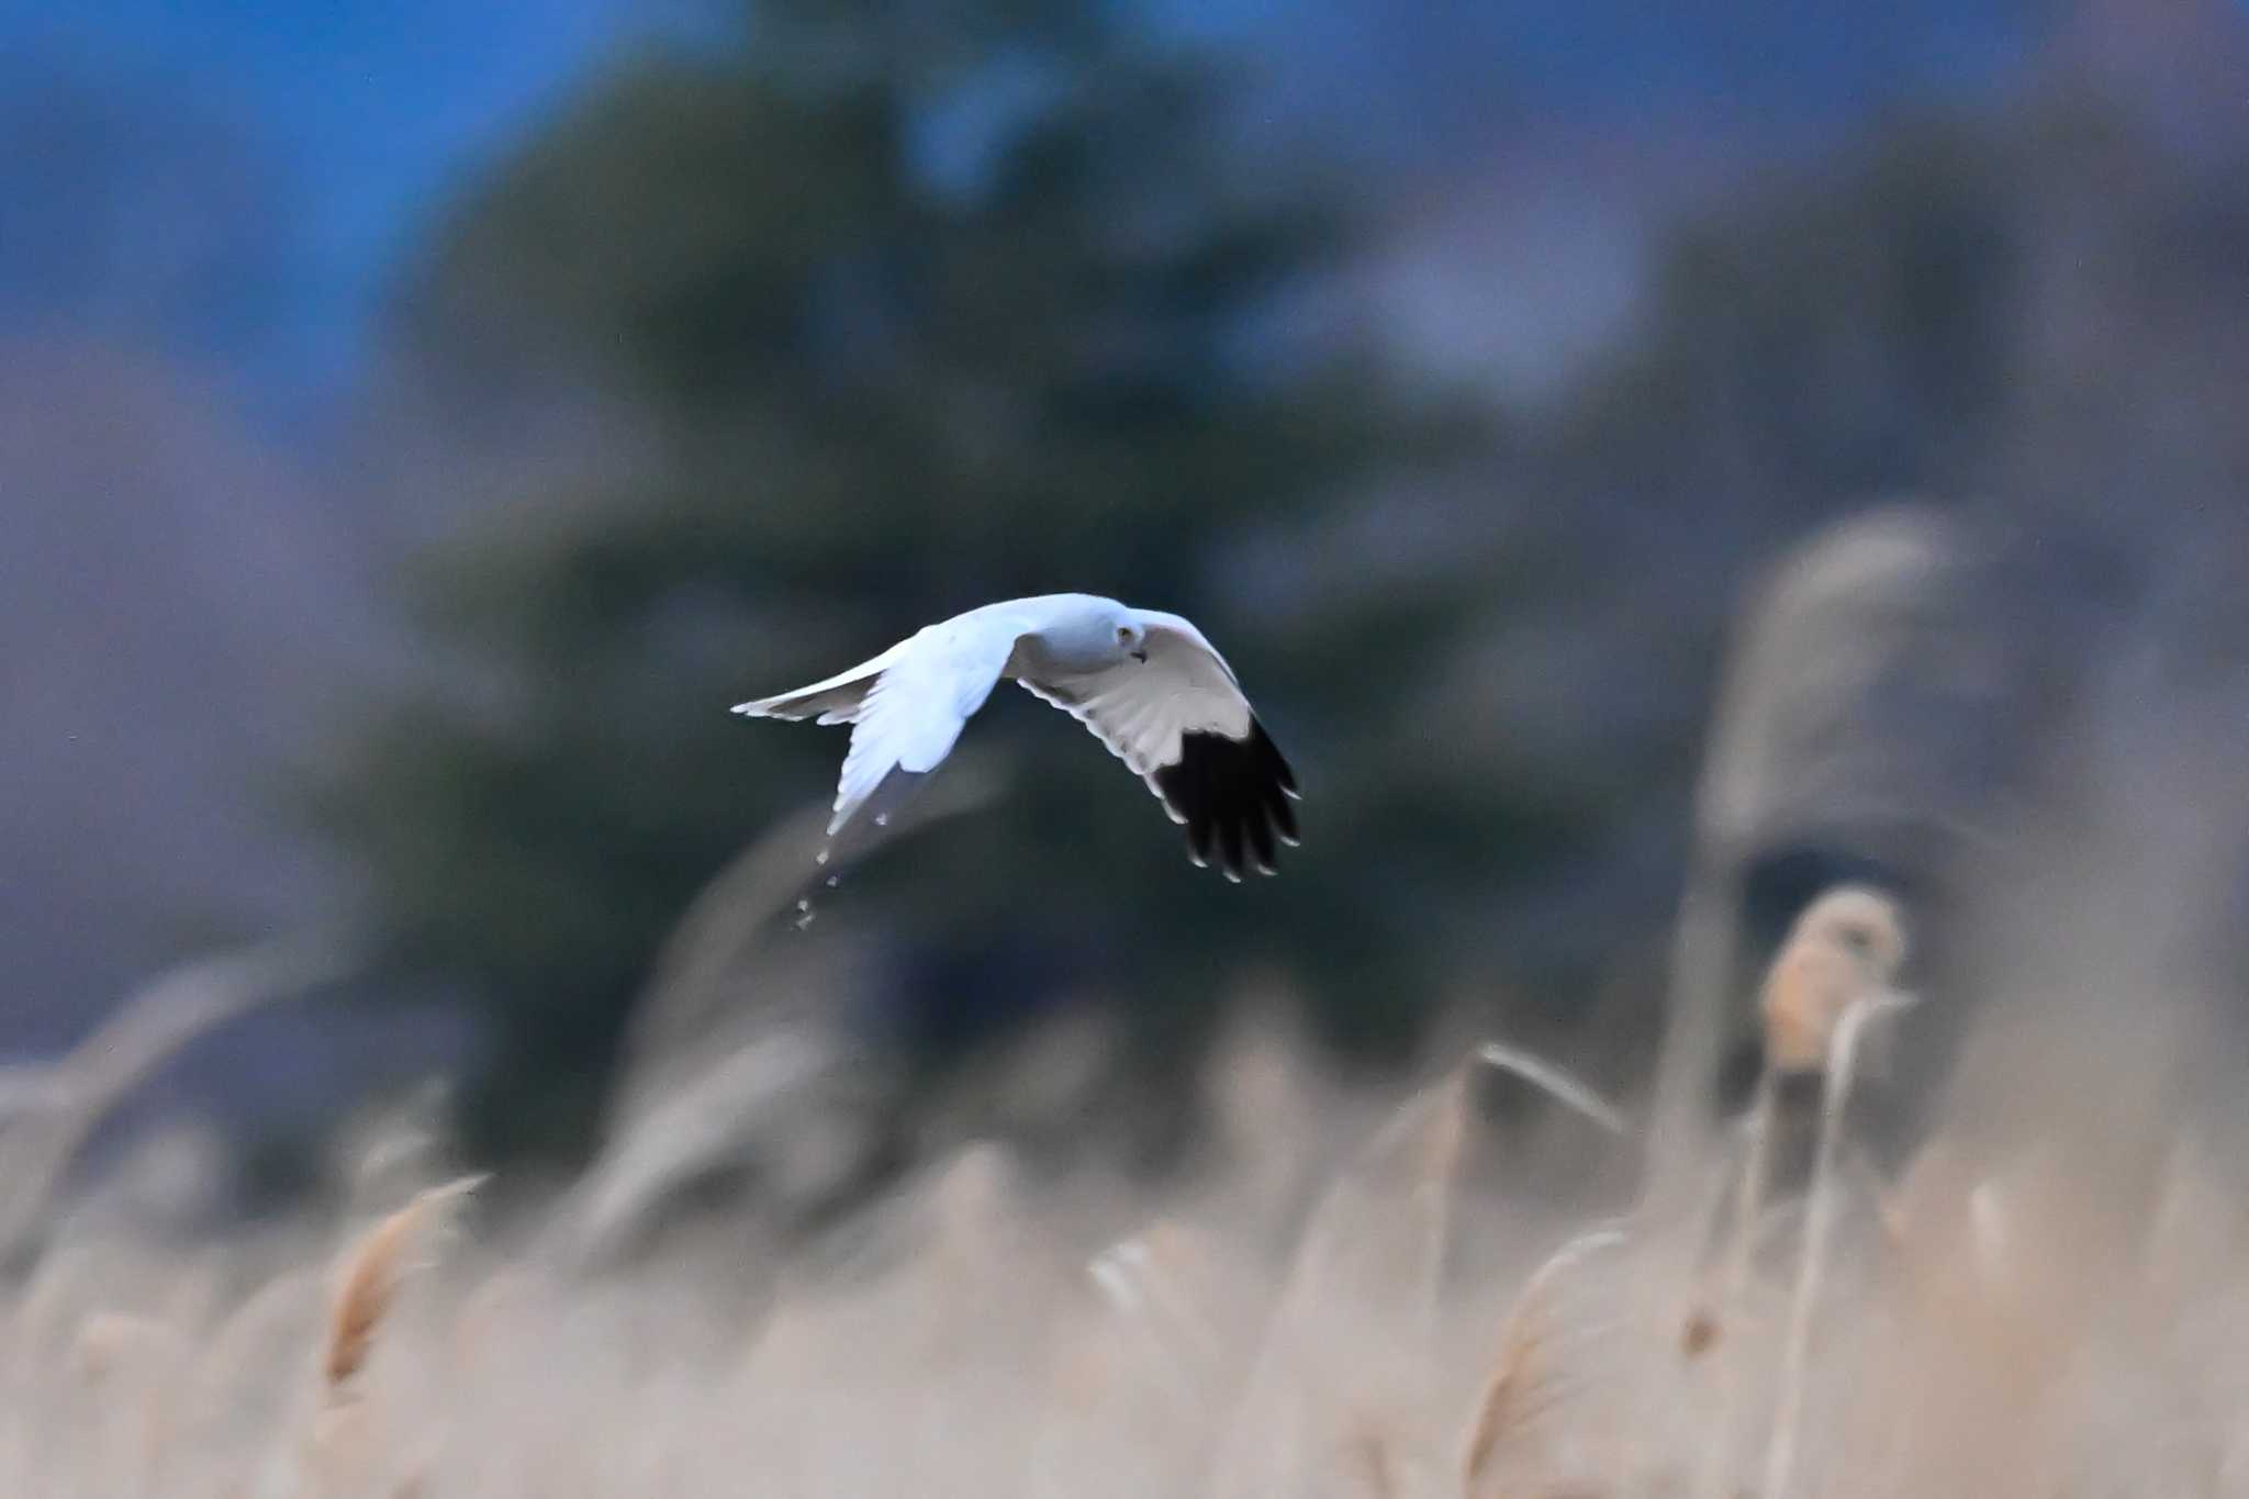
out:
{"label": "large dark green blurred tree directly behind the flying bird", "polygon": [[972,744],[1037,735],[1037,771],[832,917],[888,937],[911,1038],[1091,987],[1167,1068],[1271,962],[1336,1036],[1394,1043],[1428,993],[1419,901],[1570,832],[1568,800],[1446,764],[1406,710],[1489,575],[1271,607],[1264,539],[1471,425],[1268,337],[1349,245],[1349,198],[1248,171],[1226,97],[1093,0],[789,0],[738,54],[612,79],[439,238],[407,333],[450,402],[535,369],[639,414],[623,479],[490,515],[418,575],[459,670],[378,703],[324,793],[378,928],[490,1018],[484,1148],[582,1144],[657,939],[828,796],[839,733],[726,706],[990,598],[1194,614],[1302,766],[1309,845],[1275,883],[1196,874],[1109,755],[1003,692]]}

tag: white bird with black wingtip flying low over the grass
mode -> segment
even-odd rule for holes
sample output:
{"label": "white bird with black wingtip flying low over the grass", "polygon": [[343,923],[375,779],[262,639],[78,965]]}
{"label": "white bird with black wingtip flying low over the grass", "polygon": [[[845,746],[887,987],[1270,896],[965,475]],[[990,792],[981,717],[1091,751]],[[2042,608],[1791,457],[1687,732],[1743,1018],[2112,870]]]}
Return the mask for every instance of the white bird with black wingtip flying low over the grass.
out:
{"label": "white bird with black wingtip flying low over the grass", "polygon": [[850,724],[834,838],[866,814],[884,825],[960,737],[992,688],[1014,679],[1093,730],[1174,823],[1196,865],[1226,879],[1273,872],[1295,847],[1295,773],[1203,632],[1093,593],[1012,598],[927,625],[873,661],[740,703],[753,719]]}

